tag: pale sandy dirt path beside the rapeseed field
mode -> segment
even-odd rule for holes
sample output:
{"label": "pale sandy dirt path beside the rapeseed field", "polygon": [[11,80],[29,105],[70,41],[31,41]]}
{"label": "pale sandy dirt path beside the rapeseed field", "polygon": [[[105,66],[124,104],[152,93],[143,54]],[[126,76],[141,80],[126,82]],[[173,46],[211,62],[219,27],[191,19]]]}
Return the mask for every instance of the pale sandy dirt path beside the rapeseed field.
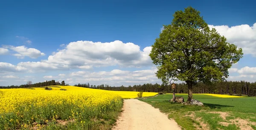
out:
{"label": "pale sandy dirt path beside the rapeseed field", "polygon": [[181,130],[174,120],[137,99],[125,99],[123,112],[112,130]]}

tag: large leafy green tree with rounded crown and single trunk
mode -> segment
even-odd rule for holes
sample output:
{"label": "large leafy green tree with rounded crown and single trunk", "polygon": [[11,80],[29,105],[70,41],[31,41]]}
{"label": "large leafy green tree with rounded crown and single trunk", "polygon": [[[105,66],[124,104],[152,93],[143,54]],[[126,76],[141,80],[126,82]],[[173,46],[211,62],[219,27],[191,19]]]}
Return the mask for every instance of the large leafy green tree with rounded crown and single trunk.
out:
{"label": "large leafy green tree with rounded crown and single trunk", "polygon": [[228,69],[243,57],[241,48],[227,43],[216,29],[210,29],[191,6],[177,11],[170,25],[164,26],[156,38],[149,56],[157,65],[156,75],[168,84],[185,81],[188,85],[188,101],[192,99],[193,84],[223,81]]}

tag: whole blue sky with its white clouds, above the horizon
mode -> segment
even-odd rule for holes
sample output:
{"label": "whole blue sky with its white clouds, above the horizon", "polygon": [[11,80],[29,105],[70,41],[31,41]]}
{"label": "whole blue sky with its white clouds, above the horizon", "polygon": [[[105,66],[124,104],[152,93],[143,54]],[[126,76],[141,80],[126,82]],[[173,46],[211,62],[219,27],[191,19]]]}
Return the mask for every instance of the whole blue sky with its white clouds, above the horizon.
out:
{"label": "whole blue sky with its white clouds, above the horizon", "polygon": [[253,0],[1,1],[0,85],[52,79],[112,86],[161,83],[148,46],[174,12],[187,6],[243,49],[244,58],[230,69],[228,80],[256,81],[255,5]]}

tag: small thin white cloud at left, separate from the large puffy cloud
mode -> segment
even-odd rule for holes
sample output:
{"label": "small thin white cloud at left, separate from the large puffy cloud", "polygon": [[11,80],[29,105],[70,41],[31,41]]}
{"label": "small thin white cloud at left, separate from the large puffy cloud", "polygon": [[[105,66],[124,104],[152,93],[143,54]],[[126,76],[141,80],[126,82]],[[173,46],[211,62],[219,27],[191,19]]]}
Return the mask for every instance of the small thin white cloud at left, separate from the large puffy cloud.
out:
{"label": "small thin white cloud at left, separate from the large puffy cloud", "polygon": [[17,58],[21,58],[21,59],[24,58],[25,56],[35,59],[35,58],[45,55],[43,52],[40,52],[38,49],[27,48],[26,46],[5,46],[5,47],[9,48],[15,52],[18,52],[13,55],[17,56]]}

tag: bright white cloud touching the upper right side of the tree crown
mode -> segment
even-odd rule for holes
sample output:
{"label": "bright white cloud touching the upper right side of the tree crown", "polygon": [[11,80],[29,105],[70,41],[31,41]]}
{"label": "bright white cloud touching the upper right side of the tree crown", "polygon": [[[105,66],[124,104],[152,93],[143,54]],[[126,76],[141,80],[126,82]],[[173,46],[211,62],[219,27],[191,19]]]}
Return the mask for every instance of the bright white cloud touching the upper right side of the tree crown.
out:
{"label": "bright white cloud touching the upper right side of the tree crown", "polygon": [[253,26],[247,24],[239,26],[213,26],[220,35],[224,35],[227,38],[227,42],[233,43],[243,49],[244,54],[253,55],[256,57],[256,23]]}

